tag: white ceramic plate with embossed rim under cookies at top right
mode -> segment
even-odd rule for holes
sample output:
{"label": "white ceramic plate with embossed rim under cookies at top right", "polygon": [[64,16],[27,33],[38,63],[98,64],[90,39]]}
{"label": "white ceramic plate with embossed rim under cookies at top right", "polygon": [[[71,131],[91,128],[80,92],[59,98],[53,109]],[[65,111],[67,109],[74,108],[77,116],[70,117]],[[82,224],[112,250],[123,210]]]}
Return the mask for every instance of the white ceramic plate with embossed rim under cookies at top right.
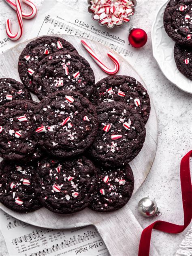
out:
{"label": "white ceramic plate with embossed rim under cookies at top right", "polygon": [[169,1],[160,7],[151,30],[153,56],[156,59],[162,73],[179,89],[192,93],[192,81],[182,75],[174,60],[173,49],[175,42],[166,34],[163,26],[163,14]]}

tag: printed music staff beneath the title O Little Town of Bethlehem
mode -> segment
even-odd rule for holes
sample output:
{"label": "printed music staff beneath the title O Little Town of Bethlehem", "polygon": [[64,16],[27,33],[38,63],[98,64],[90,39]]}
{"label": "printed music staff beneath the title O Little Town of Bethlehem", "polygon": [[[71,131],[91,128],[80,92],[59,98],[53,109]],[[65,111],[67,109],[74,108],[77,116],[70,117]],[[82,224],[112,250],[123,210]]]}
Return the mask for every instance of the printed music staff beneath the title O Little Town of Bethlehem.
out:
{"label": "printed music staff beneath the title O Little Town of Bethlehem", "polygon": [[[83,32],[79,29],[76,29],[76,28],[73,28],[69,25],[65,25],[63,22],[59,22],[58,20],[56,19],[52,19],[50,18],[50,16],[46,16],[45,17],[45,20],[44,20],[45,23],[50,23],[50,24],[53,24],[54,27],[58,26],[60,29],[65,29],[65,32],[69,33],[69,34],[74,34],[75,36],[80,36],[80,37],[85,37],[85,38],[88,38],[88,39],[91,39],[93,41],[96,41],[96,42],[99,42],[99,43],[102,43],[104,45],[107,45],[109,46],[111,49],[113,49],[114,51],[116,51],[117,53],[121,53],[121,54],[124,54],[124,56],[129,56],[129,57],[132,57],[133,56],[133,53],[126,50],[126,49],[123,49],[122,47],[119,47],[117,45],[114,45],[112,43],[109,43],[105,40],[102,40],[102,39],[99,39],[98,37],[94,37],[93,35],[91,34],[87,34],[86,32]],[[43,24],[42,24],[43,26]],[[42,28],[41,26],[41,28]],[[40,29],[41,30],[41,29]]]}

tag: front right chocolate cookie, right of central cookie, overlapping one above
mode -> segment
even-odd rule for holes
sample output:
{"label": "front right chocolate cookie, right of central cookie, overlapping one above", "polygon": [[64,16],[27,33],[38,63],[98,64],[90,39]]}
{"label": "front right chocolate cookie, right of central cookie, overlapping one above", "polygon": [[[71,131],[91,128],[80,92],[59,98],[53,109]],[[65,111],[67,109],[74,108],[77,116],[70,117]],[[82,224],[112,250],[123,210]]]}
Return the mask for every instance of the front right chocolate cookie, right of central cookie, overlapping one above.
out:
{"label": "front right chocolate cookie, right of central cookie, overlapping one above", "polygon": [[104,166],[129,163],[145,141],[141,115],[123,102],[101,103],[97,106],[97,114],[99,129],[88,152]]}

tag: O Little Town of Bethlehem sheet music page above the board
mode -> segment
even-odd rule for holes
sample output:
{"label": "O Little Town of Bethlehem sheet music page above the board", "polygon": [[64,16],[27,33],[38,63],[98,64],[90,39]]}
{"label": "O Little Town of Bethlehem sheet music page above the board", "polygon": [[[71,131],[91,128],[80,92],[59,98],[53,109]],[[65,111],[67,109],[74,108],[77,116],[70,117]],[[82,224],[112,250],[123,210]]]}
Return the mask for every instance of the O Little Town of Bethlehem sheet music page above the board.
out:
{"label": "O Little Town of Bethlehem sheet music page above the board", "polygon": [[30,38],[48,34],[77,35],[109,46],[126,57],[131,65],[134,65],[139,51],[129,45],[128,24],[124,24],[127,26],[127,32],[121,28],[108,29],[106,26],[99,26],[97,22],[93,21],[88,11],[81,13],[79,10],[64,5],[63,2],[56,2],[52,5],[51,2],[52,0],[43,2]]}

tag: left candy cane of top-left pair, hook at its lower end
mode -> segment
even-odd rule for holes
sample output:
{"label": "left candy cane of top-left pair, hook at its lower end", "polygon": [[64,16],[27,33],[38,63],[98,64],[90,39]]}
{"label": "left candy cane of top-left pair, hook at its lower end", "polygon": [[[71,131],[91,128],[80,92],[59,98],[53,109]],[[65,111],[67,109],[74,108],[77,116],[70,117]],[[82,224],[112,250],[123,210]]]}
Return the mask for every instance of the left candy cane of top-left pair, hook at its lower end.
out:
{"label": "left candy cane of top-left pair, hook at its lower end", "polygon": [[21,4],[19,0],[15,0],[15,4],[16,4],[16,11],[17,11],[17,19],[18,19],[18,31],[17,34],[13,34],[11,32],[11,19],[8,19],[6,21],[6,33],[8,35],[8,37],[13,40],[19,40],[23,34],[23,19],[22,19],[22,13],[21,13]]}

